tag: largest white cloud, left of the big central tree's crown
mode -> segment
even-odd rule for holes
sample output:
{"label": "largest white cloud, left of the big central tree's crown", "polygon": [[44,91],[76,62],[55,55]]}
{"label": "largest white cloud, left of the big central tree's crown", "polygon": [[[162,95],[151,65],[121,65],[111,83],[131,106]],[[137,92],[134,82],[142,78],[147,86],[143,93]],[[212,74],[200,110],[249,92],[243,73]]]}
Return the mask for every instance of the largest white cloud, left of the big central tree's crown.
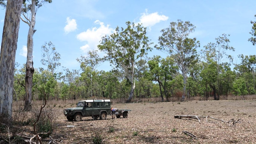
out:
{"label": "largest white cloud, left of the big central tree's crown", "polygon": [[114,32],[114,29],[110,28],[110,25],[105,26],[104,23],[99,20],[94,21],[94,23],[99,25],[99,27],[87,29],[77,35],[78,40],[87,42],[86,45],[80,47],[83,53],[87,53],[89,50],[97,50],[97,45],[99,45],[101,38]]}

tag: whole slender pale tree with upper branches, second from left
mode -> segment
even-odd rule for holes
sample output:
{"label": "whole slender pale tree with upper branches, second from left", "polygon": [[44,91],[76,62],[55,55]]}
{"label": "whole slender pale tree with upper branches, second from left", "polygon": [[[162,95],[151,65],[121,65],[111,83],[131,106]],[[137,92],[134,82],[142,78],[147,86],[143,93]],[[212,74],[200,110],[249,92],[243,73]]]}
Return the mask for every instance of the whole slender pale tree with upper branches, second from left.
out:
{"label": "whole slender pale tree with upper branches, second from left", "polygon": [[[28,2],[28,4],[26,3]],[[31,97],[32,97],[32,78],[34,74],[33,67],[33,35],[37,31],[35,29],[36,13],[39,7],[45,3],[51,3],[52,0],[23,0],[22,17],[21,20],[29,25],[29,32],[27,38],[27,61],[26,61],[26,96],[24,103],[24,110],[31,110]]]}

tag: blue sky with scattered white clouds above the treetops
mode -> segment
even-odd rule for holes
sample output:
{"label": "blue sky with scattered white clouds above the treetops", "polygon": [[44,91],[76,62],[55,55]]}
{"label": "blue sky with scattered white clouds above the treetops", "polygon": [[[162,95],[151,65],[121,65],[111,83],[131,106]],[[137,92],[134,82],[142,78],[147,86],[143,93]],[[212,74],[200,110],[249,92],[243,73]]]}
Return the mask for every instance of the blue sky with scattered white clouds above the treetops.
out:
{"label": "blue sky with scattered white clouds above the treetops", "polygon": [[[223,33],[230,34],[230,45],[235,52],[234,61],[240,63],[239,54],[255,55],[256,46],[248,39],[252,37],[251,20],[255,21],[255,0],[53,0],[51,4],[40,7],[36,14],[34,34],[33,61],[34,68],[44,67],[41,64],[41,46],[51,41],[61,55],[61,66],[70,70],[80,69],[76,58],[86,56],[89,50],[96,50],[101,37],[113,33],[116,27],[126,28],[126,22],[142,23],[147,27],[147,36],[158,44],[160,31],[167,28],[170,22],[178,19],[190,21],[196,26],[190,37],[200,41],[198,52],[209,42]],[[0,10],[0,27],[4,25],[5,10]],[[26,63],[26,45],[29,26],[20,21],[16,62]],[[2,30],[2,29],[1,29]],[[152,45],[152,47],[153,47]],[[166,55],[158,50],[148,56]],[[99,53],[100,56],[103,53]],[[99,70],[109,71],[108,64]],[[61,69],[59,69],[61,70]]]}

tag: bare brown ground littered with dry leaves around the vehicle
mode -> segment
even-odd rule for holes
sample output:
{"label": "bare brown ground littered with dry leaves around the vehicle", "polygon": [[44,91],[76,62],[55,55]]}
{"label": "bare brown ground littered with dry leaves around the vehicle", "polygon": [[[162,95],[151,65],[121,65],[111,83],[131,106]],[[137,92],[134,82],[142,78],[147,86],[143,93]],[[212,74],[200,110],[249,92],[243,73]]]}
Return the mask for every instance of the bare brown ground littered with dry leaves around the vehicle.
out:
{"label": "bare brown ground littered with dry leaves around the vehicle", "polygon": [[[66,106],[65,108],[67,108]],[[70,122],[59,111],[58,127],[54,139],[63,144],[92,143],[97,132],[103,143],[256,143],[256,100],[219,100],[159,103],[113,104],[111,107],[132,110],[127,118],[96,120],[90,117]],[[174,118],[174,115],[212,116],[239,123],[223,123],[213,119]],[[74,127],[67,127],[72,125]],[[113,128],[113,132],[109,132]],[[173,132],[176,129],[176,132]],[[196,136],[194,139],[182,131]]]}

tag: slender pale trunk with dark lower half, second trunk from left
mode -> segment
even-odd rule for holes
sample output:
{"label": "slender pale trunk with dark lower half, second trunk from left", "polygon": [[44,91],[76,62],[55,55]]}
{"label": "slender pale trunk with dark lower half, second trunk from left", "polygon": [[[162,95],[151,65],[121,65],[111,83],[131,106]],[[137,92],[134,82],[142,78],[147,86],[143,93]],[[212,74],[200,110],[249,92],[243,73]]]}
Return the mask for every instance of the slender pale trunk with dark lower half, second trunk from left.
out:
{"label": "slender pale trunk with dark lower half, second trunk from left", "polygon": [[36,23],[36,13],[35,13],[35,1],[31,1],[31,22],[29,24],[29,33],[27,39],[27,62],[26,62],[26,96],[25,96],[25,104],[24,110],[29,111],[32,108],[31,98],[32,98],[32,79],[34,74],[33,67],[33,35],[34,35],[34,27]]}

